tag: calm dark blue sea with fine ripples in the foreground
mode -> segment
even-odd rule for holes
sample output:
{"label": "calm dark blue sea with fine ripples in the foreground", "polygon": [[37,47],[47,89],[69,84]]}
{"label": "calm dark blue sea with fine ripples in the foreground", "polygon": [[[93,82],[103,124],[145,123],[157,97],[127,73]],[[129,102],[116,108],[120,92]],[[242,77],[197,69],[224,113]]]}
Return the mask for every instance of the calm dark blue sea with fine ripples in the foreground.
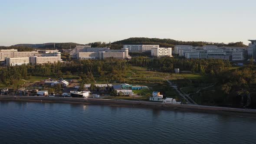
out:
{"label": "calm dark blue sea with fine ripples in the foreground", "polygon": [[256,144],[256,117],[0,101],[0,144]]}

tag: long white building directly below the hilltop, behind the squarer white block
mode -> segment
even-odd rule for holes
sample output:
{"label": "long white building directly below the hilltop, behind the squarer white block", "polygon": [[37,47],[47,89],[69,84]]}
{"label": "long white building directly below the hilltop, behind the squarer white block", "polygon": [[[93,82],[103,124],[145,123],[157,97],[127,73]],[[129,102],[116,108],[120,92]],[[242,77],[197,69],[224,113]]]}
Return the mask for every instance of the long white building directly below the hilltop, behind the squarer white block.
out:
{"label": "long white building directly below the hilltop, behind the squarer white block", "polygon": [[152,48],[159,48],[159,45],[124,45],[129,52],[151,52]]}

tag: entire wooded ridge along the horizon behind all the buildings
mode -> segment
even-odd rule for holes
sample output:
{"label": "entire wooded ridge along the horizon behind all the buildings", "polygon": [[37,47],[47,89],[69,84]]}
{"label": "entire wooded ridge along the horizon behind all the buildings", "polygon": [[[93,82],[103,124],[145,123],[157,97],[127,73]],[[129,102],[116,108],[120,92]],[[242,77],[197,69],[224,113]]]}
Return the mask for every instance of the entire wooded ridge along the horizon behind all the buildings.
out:
{"label": "entire wooded ridge along the horizon behind all the buildings", "polygon": [[[242,46],[246,47],[243,42],[232,42],[232,43],[213,43],[213,42],[195,42],[195,41],[179,41],[174,39],[158,39],[158,38],[146,38],[146,37],[131,37],[128,39],[119,40],[113,43],[105,42],[94,42],[88,43],[92,47],[110,47],[111,49],[121,49],[126,44],[150,44],[160,45],[160,47],[172,47],[177,45],[189,45],[189,46]],[[73,49],[77,45],[83,45],[79,43],[55,43],[55,49]],[[0,46],[0,49],[54,49],[54,43],[40,43],[40,44],[16,44],[14,46]]]}

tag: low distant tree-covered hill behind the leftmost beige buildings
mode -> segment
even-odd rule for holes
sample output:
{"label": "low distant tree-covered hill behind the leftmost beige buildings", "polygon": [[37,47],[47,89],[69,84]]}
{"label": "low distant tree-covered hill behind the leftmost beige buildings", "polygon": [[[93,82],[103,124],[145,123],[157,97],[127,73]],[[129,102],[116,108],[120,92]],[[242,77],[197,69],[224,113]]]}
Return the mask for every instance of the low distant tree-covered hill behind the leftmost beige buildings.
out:
{"label": "low distant tree-covered hill behind the leftmost beige buildings", "polygon": [[[79,43],[55,43],[55,49],[73,49],[77,45],[82,45]],[[37,49],[54,49],[54,43],[42,43],[42,44],[17,44],[14,46],[25,46]]]}

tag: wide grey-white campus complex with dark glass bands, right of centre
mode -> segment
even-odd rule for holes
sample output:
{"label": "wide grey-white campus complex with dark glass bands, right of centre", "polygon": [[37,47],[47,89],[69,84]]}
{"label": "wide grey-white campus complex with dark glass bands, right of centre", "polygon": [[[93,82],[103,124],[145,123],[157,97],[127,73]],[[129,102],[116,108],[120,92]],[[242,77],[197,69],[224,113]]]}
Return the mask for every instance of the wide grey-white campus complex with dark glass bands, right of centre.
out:
{"label": "wide grey-white campus complex with dark glass bands, right of centre", "polygon": [[242,61],[247,59],[247,47],[218,46],[175,46],[175,53],[187,59],[229,59]]}

